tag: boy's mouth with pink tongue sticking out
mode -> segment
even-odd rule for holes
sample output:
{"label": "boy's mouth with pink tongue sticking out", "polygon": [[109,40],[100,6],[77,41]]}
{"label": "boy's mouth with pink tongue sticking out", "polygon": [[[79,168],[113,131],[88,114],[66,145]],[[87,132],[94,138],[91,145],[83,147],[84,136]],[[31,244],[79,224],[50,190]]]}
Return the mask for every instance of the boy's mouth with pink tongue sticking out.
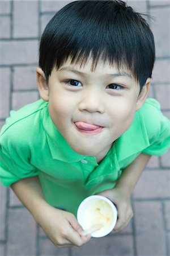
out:
{"label": "boy's mouth with pink tongue sticking out", "polygon": [[86,122],[75,122],[75,127],[80,133],[86,133],[86,134],[96,134],[100,133],[101,130],[103,130],[103,126],[99,125],[92,125],[91,123]]}

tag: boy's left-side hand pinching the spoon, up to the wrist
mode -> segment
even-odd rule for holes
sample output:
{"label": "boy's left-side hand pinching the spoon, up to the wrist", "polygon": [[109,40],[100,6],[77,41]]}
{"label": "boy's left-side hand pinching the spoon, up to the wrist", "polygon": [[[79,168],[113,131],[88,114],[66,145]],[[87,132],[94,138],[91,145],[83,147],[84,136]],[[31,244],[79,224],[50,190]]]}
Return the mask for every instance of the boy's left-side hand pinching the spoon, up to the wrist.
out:
{"label": "boy's left-side hand pinching the spoon, up to the wrist", "polygon": [[82,246],[91,236],[83,236],[83,229],[72,213],[59,210],[48,205],[41,209],[39,220],[46,236],[57,247]]}

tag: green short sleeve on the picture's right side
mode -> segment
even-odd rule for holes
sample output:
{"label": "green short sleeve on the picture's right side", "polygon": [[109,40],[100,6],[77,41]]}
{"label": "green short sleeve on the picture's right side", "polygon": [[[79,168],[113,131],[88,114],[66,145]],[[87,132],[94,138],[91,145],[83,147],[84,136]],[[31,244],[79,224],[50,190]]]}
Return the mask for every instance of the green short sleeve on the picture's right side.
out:
{"label": "green short sleeve on the picture's right side", "polygon": [[161,112],[159,102],[154,99],[146,101],[144,112],[150,146],[143,153],[163,155],[170,147],[170,121]]}

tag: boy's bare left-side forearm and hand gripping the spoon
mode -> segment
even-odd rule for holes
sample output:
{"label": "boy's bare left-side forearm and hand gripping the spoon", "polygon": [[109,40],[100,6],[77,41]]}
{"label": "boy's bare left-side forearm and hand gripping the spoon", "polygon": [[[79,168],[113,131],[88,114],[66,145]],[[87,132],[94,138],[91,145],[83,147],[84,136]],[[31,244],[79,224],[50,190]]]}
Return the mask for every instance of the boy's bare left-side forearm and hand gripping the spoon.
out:
{"label": "boy's bare left-side forearm and hand gripping the spoon", "polygon": [[57,247],[82,246],[90,240],[90,235],[82,236],[83,229],[73,214],[45,201],[37,176],[19,180],[11,188]]}

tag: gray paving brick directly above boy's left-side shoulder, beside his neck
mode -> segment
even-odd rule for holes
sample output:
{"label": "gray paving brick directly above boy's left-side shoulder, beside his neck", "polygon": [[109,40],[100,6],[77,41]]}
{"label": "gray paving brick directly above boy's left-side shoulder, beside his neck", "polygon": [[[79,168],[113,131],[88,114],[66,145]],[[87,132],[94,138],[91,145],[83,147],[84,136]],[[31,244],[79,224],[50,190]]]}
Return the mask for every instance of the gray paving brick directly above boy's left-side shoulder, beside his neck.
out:
{"label": "gray paving brick directly above boy's left-side shoulder, beside his neck", "polygon": [[37,92],[13,92],[12,93],[12,110],[18,110],[26,104],[32,103],[39,99]]}

